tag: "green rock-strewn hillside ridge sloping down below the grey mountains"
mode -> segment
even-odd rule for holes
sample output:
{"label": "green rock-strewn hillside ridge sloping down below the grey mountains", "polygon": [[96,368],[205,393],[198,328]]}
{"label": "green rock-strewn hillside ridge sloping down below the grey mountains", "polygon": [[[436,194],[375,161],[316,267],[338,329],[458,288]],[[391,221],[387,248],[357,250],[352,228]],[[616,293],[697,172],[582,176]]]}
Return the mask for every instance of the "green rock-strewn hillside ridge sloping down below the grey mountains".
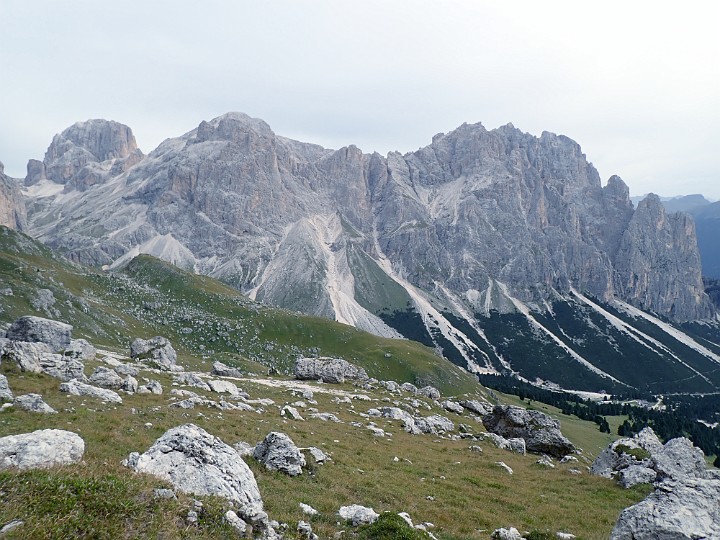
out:
{"label": "green rock-strewn hillside ridge sloping down below the grey mountains", "polygon": [[[188,365],[198,357],[250,370],[273,366],[290,373],[298,355],[340,356],[380,379],[433,384],[446,393],[474,389],[475,378],[434,351],[407,340],[373,336],[318,317],[251,302],[216,280],[179,270],[150,256],[123,273],[69,265],[30,238],[0,228],[0,322],[34,314],[72,323],[75,337],[126,350],[135,337],[163,335]],[[36,309],[41,288],[56,303]]]}

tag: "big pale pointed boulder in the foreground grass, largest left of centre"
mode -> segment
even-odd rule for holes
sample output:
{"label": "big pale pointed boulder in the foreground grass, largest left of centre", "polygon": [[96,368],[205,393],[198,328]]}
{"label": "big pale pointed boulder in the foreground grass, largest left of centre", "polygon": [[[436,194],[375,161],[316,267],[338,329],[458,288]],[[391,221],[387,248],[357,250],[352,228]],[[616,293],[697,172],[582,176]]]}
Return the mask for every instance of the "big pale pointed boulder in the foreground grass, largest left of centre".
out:
{"label": "big pale pointed boulder in the foreground grass, largest left of centre", "polygon": [[250,468],[235,449],[194,424],[168,430],[143,454],[131,454],[127,465],[185,493],[229,499],[244,520],[268,526]]}

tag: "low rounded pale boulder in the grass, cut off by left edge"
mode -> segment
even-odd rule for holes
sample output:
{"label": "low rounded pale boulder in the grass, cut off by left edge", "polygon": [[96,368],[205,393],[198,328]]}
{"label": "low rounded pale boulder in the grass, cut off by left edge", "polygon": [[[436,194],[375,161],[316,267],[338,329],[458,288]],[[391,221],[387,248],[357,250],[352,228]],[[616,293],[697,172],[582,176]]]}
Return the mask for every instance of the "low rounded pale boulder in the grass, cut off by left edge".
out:
{"label": "low rounded pale boulder in the grass, cut off by left edge", "polygon": [[38,469],[79,462],[85,442],[76,433],[41,429],[0,438],[0,469]]}

